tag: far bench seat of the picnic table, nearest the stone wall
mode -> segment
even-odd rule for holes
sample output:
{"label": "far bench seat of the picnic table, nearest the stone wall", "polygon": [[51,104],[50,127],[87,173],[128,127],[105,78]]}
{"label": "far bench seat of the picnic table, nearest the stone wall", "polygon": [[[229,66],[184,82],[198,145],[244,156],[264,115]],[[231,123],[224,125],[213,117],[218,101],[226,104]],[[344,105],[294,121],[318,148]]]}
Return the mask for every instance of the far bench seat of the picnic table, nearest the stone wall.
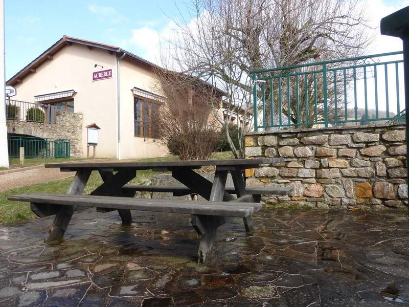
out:
{"label": "far bench seat of the picnic table, nearest the stone wall", "polygon": [[[261,195],[288,195],[292,191],[290,187],[246,187],[246,193],[258,195],[255,198],[256,202],[260,202]],[[124,195],[132,197],[137,191],[139,192],[168,192],[173,193],[173,196],[184,196],[195,193],[192,189],[186,186],[143,186],[143,185],[125,185],[121,188]],[[235,194],[234,187],[226,187],[226,192]],[[133,193],[133,194],[132,194]]]}

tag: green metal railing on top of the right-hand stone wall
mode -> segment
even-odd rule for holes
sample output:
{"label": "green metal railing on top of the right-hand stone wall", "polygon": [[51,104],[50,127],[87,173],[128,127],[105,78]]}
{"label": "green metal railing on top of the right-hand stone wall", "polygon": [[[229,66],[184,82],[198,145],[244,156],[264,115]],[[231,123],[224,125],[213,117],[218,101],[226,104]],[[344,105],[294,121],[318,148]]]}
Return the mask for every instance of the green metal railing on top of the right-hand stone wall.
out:
{"label": "green metal railing on top of the right-hand stone wall", "polygon": [[404,101],[402,54],[390,52],[251,72],[254,114],[259,114],[254,117],[255,131],[404,120],[400,105]]}

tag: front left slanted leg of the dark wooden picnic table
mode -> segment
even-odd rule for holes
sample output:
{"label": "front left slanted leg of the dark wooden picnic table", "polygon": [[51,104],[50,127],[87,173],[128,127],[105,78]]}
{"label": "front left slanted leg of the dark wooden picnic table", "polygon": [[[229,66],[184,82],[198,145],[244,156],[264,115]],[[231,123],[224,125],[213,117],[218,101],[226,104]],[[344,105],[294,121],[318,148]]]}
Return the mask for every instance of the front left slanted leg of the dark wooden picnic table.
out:
{"label": "front left slanted leg of the dark wooden picnic table", "polygon": [[[87,169],[77,171],[67,194],[82,194],[90,174],[91,171]],[[71,217],[73,216],[76,207],[77,206],[60,206],[57,214],[55,215],[53,225],[51,226],[51,229],[46,237],[46,242],[60,240],[63,238],[65,230],[70,224]]]}

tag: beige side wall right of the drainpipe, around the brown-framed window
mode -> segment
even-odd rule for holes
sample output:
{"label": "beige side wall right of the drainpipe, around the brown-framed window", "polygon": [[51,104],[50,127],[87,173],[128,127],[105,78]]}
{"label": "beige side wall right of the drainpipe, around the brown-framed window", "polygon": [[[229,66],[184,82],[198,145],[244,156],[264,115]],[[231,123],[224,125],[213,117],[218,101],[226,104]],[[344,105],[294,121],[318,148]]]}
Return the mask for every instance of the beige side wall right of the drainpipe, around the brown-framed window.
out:
{"label": "beige side wall right of the drainpipe, around the brown-framed window", "polygon": [[126,58],[120,61],[120,100],[121,100],[121,159],[152,158],[168,155],[166,146],[158,140],[134,136],[132,89],[149,91],[161,95],[157,91],[154,73],[147,67],[136,65]]}

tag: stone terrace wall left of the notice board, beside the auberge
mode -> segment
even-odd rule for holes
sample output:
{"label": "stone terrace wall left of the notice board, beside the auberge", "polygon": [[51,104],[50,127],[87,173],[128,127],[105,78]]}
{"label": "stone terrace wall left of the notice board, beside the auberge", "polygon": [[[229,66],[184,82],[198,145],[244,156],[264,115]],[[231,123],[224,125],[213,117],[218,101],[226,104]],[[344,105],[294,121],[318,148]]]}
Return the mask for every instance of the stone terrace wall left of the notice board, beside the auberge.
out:
{"label": "stone terrace wall left of the notice board, beside the auberge", "polygon": [[7,133],[71,140],[71,157],[82,157],[82,114],[57,112],[55,124],[7,121]]}

